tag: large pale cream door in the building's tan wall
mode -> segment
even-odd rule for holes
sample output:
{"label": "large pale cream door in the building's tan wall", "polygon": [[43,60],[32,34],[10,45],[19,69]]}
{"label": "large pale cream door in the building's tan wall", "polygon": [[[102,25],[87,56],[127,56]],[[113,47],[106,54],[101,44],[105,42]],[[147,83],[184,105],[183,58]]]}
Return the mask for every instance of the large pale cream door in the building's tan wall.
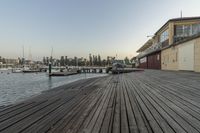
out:
{"label": "large pale cream door in the building's tan wall", "polygon": [[194,42],[179,45],[179,70],[194,71]]}

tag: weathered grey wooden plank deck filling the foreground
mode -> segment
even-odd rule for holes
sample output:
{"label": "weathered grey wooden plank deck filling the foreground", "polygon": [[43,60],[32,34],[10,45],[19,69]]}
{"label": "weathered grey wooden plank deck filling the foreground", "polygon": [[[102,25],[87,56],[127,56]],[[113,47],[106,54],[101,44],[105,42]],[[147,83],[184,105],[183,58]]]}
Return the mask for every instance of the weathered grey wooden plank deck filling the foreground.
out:
{"label": "weathered grey wooden plank deck filling the foreground", "polygon": [[199,133],[200,74],[134,72],[77,81],[0,108],[2,133]]}

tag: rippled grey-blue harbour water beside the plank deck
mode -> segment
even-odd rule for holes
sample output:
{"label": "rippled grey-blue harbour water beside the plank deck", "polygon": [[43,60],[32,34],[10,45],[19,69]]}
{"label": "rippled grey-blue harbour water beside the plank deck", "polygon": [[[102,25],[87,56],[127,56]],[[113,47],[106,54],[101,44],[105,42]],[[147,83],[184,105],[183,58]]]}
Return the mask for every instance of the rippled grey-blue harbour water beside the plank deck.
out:
{"label": "rippled grey-blue harbour water beside the plank deck", "polygon": [[23,101],[42,91],[85,78],[106,74],[78,74],[49,78],[46,73],[7,73],[0,71],[0,106]]}

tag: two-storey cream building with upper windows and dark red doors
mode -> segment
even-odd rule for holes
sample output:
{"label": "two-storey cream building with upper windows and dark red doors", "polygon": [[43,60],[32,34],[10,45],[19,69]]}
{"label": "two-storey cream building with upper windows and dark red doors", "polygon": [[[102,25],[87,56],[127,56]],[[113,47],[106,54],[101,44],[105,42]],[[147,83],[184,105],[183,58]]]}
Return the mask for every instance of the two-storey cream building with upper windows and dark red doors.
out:
{"label": "two-storey cream building with upper windows and dark red doors", "polygon": [[140,68],[200,72],[200,17],[170,19],[137,52]]}

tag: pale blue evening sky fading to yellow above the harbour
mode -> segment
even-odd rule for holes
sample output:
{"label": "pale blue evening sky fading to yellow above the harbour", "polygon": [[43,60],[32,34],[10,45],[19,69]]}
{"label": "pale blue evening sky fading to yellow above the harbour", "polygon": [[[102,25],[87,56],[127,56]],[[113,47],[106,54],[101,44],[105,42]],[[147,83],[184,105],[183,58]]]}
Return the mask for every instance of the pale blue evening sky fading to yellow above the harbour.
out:
{"label": "pale blue evening sky fading to yellow above the harbour", "polygon": [[[167,20],[200,16],[200,0],[1,0],[0,56],[136,56]],[[31,55],[31,56],[30,56]]]}

